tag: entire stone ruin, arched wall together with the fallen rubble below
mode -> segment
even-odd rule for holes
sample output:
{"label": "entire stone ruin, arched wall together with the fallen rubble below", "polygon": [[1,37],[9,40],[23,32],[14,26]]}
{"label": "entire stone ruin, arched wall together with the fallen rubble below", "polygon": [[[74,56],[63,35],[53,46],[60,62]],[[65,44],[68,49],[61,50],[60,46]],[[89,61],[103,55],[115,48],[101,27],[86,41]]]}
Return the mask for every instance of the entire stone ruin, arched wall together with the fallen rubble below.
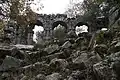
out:
{"label": "entire stone ruin, arched wall together with the fallen rubble below", "polygon": [[[28,36],[18,25],[9,24],[4,29],[9,44],[0,47],[0,80],[120,80],[118,12],[110,13],[109,23],[101,17],[91,23],[80,16],[38,15],[37,22],[28,26]],[[53,37],[59,24],[68,38],[60,45]],[[44,27],[43,43],[29,45],[34,25]],[[87,25],[88,32],[75,36],[75,27],[81,25]]]}

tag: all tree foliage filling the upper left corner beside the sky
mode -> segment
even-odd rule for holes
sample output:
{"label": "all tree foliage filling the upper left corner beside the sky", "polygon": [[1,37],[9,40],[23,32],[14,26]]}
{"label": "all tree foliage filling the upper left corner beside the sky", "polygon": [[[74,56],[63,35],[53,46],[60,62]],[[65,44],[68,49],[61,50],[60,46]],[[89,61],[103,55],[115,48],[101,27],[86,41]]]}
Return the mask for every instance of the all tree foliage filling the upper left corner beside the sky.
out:
{"label": "all tree foliage filling the upper left corner beside the sky", "polygon": [[[40,1],[41,0],[38,2]],[[13,20],[20,26],[26,27],[27,25],[36,22],[37,14],[32,11],[31,4],[35,5],[34,0],[0,1],[0,16],[5,20]],[[40,9],[42,9],[42,5]],[[0,20],[3,19],[0,18]]]}

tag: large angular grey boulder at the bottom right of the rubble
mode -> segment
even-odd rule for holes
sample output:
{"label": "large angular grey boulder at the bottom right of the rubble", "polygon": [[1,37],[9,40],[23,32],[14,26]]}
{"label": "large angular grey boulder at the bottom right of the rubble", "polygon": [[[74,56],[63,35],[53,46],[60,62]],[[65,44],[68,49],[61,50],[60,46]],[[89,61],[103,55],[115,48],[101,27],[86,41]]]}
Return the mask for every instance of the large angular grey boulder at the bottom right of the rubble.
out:
{"label": "large angular grey boulder at the bottom right of the rubble", "polygon": [[117,80],[113,70],[102,62],[93,65],[97,80]]}

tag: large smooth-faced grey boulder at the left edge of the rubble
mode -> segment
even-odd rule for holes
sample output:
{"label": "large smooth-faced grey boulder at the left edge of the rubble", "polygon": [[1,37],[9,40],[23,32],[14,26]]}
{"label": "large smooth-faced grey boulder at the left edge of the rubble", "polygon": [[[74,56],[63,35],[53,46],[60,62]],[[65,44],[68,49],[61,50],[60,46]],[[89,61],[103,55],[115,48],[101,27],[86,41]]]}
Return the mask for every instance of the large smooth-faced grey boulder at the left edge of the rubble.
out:
{"label": "large smooth-faced grey boulder at the left edge of the rubble", "polygon": [[0,71],[7,71],[11,68],[18,68],[21,65],[21,60],[16,59],[11,56],[6,56],[6,58],[3,60],[2,65],[0,66]]}

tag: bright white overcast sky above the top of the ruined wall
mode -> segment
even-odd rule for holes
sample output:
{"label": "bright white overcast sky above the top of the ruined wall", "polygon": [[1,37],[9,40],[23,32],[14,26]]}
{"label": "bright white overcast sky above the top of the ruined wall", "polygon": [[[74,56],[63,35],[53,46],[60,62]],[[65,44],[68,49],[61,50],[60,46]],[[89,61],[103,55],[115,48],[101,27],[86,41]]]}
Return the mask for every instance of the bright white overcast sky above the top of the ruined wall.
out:
{"label": "bright white overcast sky above the top of the ruined wall", "polygon": [[[73,2],[78,2],[83,0],[73,0]],[[57,13],[64,13],[66,8],[68,7],[70,0],[42,0],[39,2],[39,0],[35,0],[35,3],[37,5],[32,5],[32,9],[37,13],[43,13],[43,14],[57,14]],[[40,7],[40,3],[43,4],[44,8],[40,11],[37,11],[37,8]]]}

